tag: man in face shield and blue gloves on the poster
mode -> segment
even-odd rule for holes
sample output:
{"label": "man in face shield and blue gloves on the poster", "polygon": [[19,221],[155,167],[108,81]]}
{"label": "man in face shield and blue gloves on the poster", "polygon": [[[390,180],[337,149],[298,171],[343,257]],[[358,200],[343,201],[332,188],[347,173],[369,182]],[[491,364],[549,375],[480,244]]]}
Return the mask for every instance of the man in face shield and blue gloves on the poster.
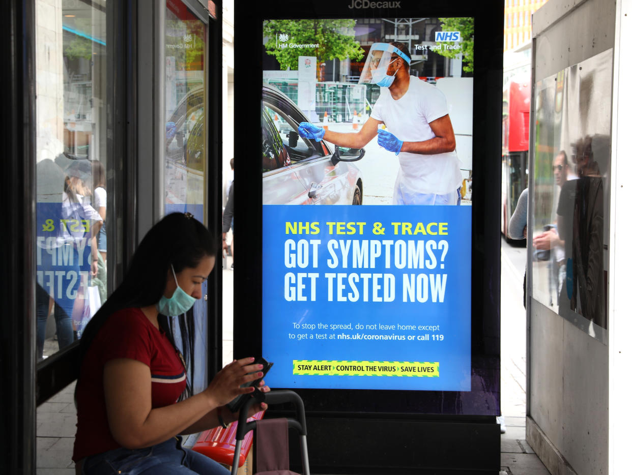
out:
{"label": "man in face shield and blue gloves on the poster", "polygon": [[377,143],[399,158],[394,205],[456,205],[462,178],[446,97],[434,85],[410,76],[409,70],[405,44],[375,43],[359,82],[382,89],[362,129],[340,133],[303,122],[298,133],[348,148],[362,148],[377,135]]}

